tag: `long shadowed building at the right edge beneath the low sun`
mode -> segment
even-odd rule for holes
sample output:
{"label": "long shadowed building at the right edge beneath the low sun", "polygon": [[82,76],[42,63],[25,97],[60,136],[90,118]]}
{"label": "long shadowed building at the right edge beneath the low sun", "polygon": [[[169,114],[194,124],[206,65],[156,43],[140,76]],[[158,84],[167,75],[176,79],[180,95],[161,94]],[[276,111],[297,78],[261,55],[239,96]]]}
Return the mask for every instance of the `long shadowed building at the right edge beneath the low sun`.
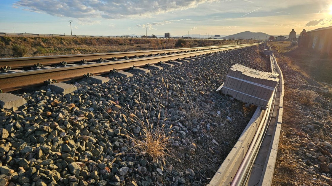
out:
{"label": "long shadowed building at the right edge beneath the low sun", "polygon": [[[303,29],[303,31],[305,31]],[[321,54],[332,55],[332,26],[318,28],[308,32],[302,31],[299,46],[311,48]]]}

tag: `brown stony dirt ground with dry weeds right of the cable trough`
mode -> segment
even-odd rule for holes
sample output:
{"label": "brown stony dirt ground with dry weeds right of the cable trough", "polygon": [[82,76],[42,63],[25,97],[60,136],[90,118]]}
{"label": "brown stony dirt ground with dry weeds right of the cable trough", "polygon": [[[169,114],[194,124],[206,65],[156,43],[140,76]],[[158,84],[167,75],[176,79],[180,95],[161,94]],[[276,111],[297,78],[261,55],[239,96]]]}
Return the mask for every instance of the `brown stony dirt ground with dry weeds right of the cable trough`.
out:
{"label": "brown stony dirt ground with dry weeds right of the cable trough", "polygon": [[282,131],[272,185],[331,185],[331,57],[270,42],[283,71]]}

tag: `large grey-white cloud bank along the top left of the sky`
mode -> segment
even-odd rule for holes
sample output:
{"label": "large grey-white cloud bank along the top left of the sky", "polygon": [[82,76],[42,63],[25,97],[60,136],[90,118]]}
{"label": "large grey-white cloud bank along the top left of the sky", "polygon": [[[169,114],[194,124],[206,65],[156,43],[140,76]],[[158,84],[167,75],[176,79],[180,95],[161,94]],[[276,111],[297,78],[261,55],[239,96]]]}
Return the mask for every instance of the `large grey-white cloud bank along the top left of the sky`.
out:
{"label": "large grey-white cloud bank along the top left of the sky", "polygon": [[18,0],[13,7],[56,17],[122,19],[151,17],[220,1],[223,0]]}

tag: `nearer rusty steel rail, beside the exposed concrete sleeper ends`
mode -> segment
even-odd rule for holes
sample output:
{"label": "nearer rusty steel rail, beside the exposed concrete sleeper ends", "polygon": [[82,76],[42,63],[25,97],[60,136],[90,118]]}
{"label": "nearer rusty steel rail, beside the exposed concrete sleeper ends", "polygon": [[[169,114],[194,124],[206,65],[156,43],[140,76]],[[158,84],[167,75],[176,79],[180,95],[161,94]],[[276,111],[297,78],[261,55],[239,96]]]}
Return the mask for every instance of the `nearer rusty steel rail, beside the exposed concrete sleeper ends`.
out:
{"label": "nearer rusty steel rail, beside the exposed concrete sleeper ends", "polygon": [[76,78],[82,78],[84,74],[93,73],[94,75],[100,75],[110,73],[110,70],[126,70],[130,67],[143,67],[146,64],[158,64],[159,62],[167,62],[169,60],[177,60],[179,58],[185,58],[193,55],[203,55],[207,53],[214,53],[219,51],[238,49],[248,46],[257,45],[247,44],[245,46],[229,47],[225,49],[210,49],[204,51],[194,51],[188,53],[180,53],[165,56],[155,56],[149,58],[139,58],[132,60],[121,60],[121,61],[105,61],[102,63],[75,65],[69,67],[58,67],[51,69],[40,69],[40,70],[28,70],[20,72],[2,73],[0,74],[0,89],[3,92],[9,92],[18,90],[30,86],[41,85],[43,81],[47,79],[55,79],[58,82],[67,81]]}

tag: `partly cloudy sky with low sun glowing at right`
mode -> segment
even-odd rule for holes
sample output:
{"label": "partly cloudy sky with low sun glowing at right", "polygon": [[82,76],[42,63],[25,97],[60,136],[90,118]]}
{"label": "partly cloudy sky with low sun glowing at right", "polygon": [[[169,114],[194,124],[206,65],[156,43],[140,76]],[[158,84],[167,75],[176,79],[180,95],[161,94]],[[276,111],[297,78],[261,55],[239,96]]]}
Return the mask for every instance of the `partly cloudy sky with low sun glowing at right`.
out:
{"label": "partly cloudy sky with low sun glowing at right", "polygon": [[332,25],[332,0],[0,0],[0,32],[299,34]]}

